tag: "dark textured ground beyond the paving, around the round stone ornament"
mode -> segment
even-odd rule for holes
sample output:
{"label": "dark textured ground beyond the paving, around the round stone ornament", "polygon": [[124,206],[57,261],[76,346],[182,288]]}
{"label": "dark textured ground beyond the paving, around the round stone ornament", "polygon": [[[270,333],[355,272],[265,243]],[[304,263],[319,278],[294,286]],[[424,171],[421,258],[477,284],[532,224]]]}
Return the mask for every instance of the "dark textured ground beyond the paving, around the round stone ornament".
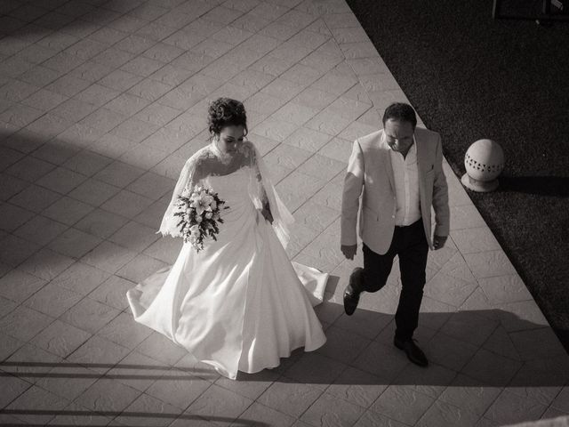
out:
{"label": "dark textured ground beyond the paving, around the round stone ornament", "polygon": [[492,0],[348,0],[454,173],[501,143],[501,187],[469,192],[569,351],[569,22],[493,20]]}

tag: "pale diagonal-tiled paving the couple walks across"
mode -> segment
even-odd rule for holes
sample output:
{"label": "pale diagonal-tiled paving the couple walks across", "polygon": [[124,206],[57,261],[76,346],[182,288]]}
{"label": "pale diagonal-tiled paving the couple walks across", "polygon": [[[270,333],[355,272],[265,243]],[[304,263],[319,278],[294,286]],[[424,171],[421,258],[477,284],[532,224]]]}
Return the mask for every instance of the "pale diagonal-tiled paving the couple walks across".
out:
{"label": "pale diagonal-tiled paving the couple walks across", "polygon": [[[451,239],[417,338],[391,344],[398,275],[343,314],[350,144],[405,94],[344,0],[0,1],[0,424],[493,426],[569,414],[569,359],[445,165]],[[124,293],[171,263],[155,230],[205,110],[244,100],[297,219],[291,258],[332,274],[328,342],[232,382],[136,324]]]}

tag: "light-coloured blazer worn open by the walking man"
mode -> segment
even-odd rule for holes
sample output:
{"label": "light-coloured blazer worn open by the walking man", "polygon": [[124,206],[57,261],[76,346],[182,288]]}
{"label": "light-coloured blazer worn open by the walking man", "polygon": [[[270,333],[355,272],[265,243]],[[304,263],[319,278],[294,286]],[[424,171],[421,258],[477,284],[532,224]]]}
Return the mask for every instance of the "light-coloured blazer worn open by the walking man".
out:
{"label": "light-coloured blazer worn open by the walking man", "polygon": [[[436,132],[417,127],[415,142],[421,218],[432,249],[431,206],[435,211],[434,234],[448,236],[450,229],[441,138]],[[388,252],[395,230],[397,205],[389,150],[383,130],[354,141],[342,193],[341,245],[357,245],[359,211],[359,237],[376,254]]]}

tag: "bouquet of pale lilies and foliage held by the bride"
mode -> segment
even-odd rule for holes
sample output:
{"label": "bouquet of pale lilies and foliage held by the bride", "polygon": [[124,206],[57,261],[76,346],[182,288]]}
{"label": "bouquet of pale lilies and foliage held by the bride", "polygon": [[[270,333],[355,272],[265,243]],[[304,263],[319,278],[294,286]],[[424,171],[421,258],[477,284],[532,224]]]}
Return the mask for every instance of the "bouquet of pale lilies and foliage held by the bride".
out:
{"label": "bouquet of pale lilies and foliage held by the bride", "polygon": [[204,238],[217,240],[215,235],[220,232],[218,224],[223,223],[220,211],[228,209],[228,206],[221,207],[224,204],[225,201],[220,200],[217,193],[201,185],[196,185],[191,192],[186,189],[178,196],[174,216],[180,217],[178,227],[184,242],[191,243],[196,252],[204,249]]}

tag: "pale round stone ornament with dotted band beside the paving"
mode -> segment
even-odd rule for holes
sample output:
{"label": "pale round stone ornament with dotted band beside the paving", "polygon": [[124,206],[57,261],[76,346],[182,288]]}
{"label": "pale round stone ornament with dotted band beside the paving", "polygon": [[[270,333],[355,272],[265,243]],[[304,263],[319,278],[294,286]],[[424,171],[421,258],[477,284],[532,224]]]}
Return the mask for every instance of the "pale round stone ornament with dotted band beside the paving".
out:
{"label": "pale round stone ornament with dotted band beside the paving", "polygon": [[478,192],[493,191],[498,188],[497,178],[504,169],[504,151],[496,141],[478,140],[467,150],[464,166],[462,185]]}

